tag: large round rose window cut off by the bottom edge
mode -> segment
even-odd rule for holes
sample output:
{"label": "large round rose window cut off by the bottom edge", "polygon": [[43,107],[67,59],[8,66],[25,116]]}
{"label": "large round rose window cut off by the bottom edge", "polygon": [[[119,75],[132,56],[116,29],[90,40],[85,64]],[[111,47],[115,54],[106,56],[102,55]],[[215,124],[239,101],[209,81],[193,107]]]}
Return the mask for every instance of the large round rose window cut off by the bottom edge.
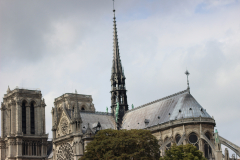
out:
{"label": "large round rose window cut off by the bottom edge", "polygon": [[69,143],[62,144],[57,151],[57,160],[73,160],[73,149]]}

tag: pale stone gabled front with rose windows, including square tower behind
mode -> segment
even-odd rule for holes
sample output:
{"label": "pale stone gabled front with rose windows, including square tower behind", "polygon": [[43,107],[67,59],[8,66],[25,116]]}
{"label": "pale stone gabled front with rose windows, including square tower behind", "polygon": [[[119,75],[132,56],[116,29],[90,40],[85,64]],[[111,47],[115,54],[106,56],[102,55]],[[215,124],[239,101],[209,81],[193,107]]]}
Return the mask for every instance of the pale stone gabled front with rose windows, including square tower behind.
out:
{"label": "pale stone gabled front with rose windows, including square tower behind", "polygon": [[66,93],[54,101],[52,109],[52,159],[78,160],[84,152],[81,111],[95,112],[92,96]]}

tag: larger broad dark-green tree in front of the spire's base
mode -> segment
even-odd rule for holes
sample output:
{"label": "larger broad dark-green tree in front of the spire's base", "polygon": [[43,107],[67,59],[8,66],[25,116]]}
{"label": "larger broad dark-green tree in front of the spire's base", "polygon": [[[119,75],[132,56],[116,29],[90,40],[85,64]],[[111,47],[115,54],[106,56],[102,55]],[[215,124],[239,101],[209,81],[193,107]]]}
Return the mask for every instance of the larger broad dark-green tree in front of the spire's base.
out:
{"label": "larger broad dark-green tree in front of the spire's base", "polygon": [[155,160],[159,147],[150,131],[106,129],[88,143],[80,160]]}

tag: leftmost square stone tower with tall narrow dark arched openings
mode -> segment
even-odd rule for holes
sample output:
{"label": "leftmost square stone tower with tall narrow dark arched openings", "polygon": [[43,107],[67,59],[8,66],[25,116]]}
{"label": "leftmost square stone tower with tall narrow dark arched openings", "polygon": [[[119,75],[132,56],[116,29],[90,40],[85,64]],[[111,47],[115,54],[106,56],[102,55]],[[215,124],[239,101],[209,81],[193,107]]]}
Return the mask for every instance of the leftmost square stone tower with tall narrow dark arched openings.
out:
{"label": "leftmost square stone tower with tall narrow dark arched openings", "polygon": [[46,157],[45,107],[41,91],[8,87],[1,103],[1,160]]}

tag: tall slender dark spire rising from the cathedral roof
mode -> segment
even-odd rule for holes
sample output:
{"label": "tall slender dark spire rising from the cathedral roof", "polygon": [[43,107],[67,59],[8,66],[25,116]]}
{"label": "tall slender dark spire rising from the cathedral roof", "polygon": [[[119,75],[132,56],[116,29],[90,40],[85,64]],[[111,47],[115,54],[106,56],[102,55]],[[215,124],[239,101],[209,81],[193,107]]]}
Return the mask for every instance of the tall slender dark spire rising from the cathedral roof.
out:
{"label": "tall slender dark spire rising from the cathedral roof", "polygon": [[[122,67],[118,38],[117,38],[117,25],[115,10],[113,10],[113,61],[112,61],[112,75],[111,75],[111,112],[113,113],[117,122],[117,128],[120,129],[122,125],[122,118],[125,112],[128,110],[127,103],[127,90],[125,87],[125,75]],[[117,103],[119,104],[119,110],[117,109]],[[117,111],[118,110],[118,111]],[[118,112],[118,114],[116,114]]]}

